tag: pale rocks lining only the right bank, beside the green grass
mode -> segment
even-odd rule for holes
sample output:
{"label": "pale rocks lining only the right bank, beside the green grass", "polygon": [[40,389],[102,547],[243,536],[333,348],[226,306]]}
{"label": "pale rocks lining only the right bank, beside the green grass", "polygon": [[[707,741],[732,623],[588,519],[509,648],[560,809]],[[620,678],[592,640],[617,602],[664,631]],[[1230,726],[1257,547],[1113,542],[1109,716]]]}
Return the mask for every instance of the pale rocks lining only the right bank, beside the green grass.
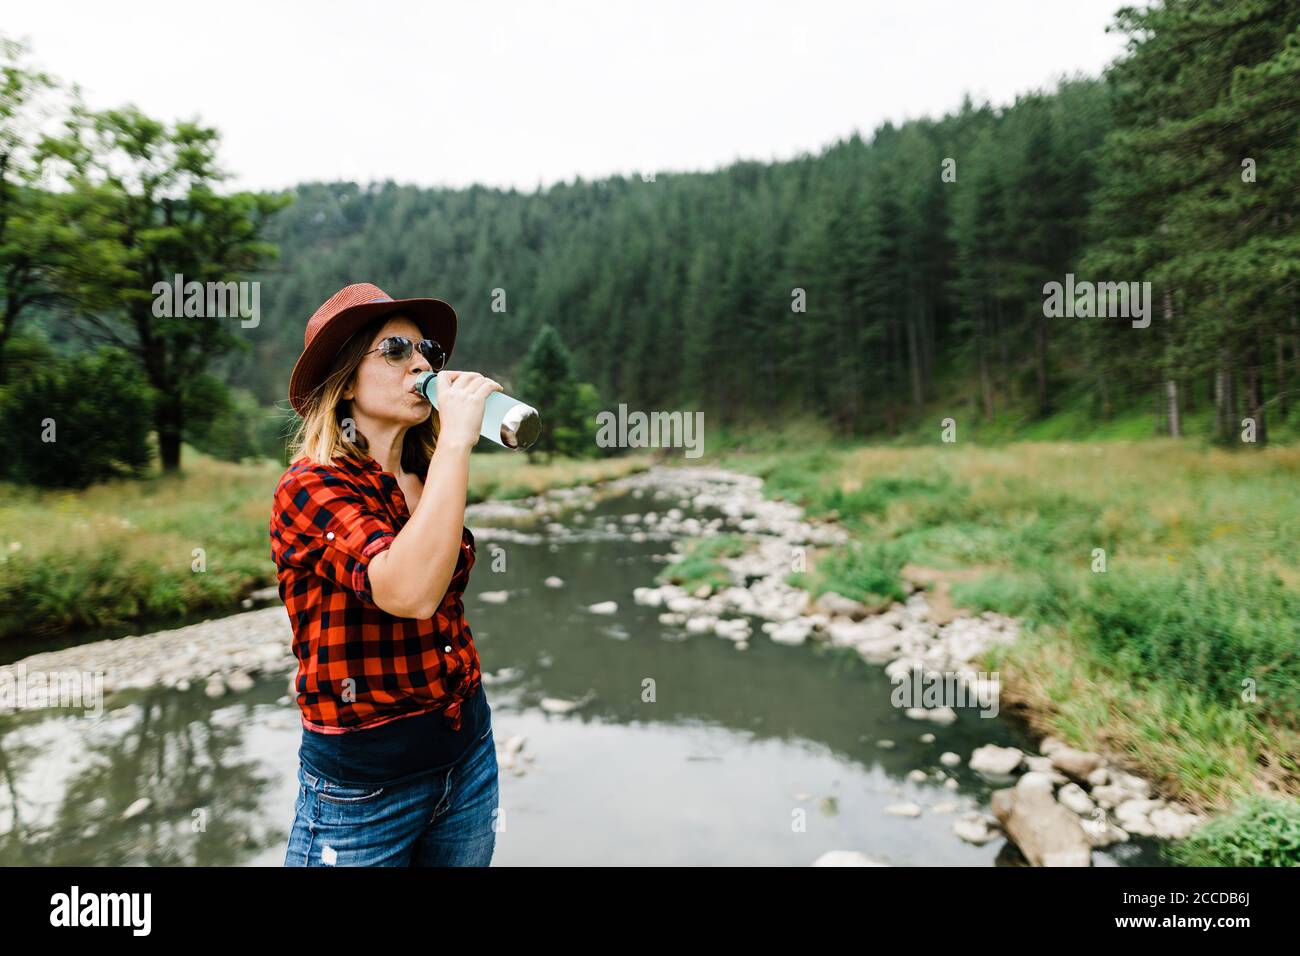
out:
{"label": "pale rocks lining only the right bank, beside the green grass", "polygon": [[[870,609],[840,594],[822,594],[815,602],[809,594],[785,583],[796,561],[811,546],[841,545],[848,533],[828,523],[803,519],[789,503],[763,497],[757,477],[707,468],[656,471],[620,479],[618,485],[633,494],[675,498],[682,507],[715,507],[725,512],[727,524],[755,536],[755,545],[736,558],[719,558],[731,574],[732,584],[722,589],[707,585],[688,593],[676,585],[637,588],[640,604],[663,607],[663,623],[684,627],[690,633],[712,633],[731,640],[738,650],[749,646],[753,635],[749,617],[760,618],[760,630],[775,641],[803,644],[827,641],[855,650],[863,659],[883,665],[896,685],[923,678],[930,683],[946,678],[949,687],[961,684],[963,700],[988,701],[1000,693],[996,675],[982,671],[982,654],[994,644],[1014,644],[1015,620],[991,613],[967,615],[953,607],[946,596],[944,575],[924,568],[905,568],[911,594],[906,602],[885,609]],[[645,518],[655,528],[673,523],[670,510]],[[680,509],[676,509],[680,514]],[[694,527],[692,535],[719,533],[714,527]],[[936,587],[941,606],[932,606],[922,585]],[[956,710],[939,706],[910,706],[906,715],[918,721],[950,723]],[[879,741],[885,745],[888,741]],[[1091,865],[1092,848],[1124,842],[1130,835],[1180,839],[1205,822],[1205,817],[1153,795],[1150,784],[1122,769],[1114,757],[1088,753],[1046,737],[1040,753],[993,745],[976,748],[966,757],[970,767],[992,783],[1009,786],[994,791],[992,814],[970,812],[957,817],[953,832],[959,839],[982,844],[1005,835],[1031,865]],[[954,766],[957,753],[945,753],[941,762]],[[923,770],[913,777],[926,779]],[[946,778],[949,788],[957,782]],[[915,804],[896,804],[888,812],[916,816]],[[870,861],[868,861],[870,862]],[[818,865],[862,865],[853,851],[827,855]]]}

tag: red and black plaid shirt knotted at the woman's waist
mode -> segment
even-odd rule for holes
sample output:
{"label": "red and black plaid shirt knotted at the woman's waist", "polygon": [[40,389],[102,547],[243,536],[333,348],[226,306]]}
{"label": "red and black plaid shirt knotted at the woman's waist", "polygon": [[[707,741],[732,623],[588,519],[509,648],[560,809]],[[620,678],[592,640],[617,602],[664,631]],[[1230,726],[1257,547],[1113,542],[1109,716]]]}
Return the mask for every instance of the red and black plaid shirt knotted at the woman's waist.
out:
{"label": "red and black plaid shirt knotted at the woman's waist", "polygon": [[334,460],[290,464],[270,514],[303,726],[344,734],[443,710],[459,731],[462,704],[482,676],[462,601],[474,537],[464,528],[456,570],[432,618],[389,614],[370,597],[369,562],[410,519],[406,497],[369,455]]}

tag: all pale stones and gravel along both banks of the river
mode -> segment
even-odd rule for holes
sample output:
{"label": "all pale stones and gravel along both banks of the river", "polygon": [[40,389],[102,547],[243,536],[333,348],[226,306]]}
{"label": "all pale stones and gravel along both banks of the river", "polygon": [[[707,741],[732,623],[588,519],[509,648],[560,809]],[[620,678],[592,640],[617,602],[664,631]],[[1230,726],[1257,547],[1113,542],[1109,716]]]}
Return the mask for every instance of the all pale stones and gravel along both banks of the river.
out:
{"label": "all pale stones and gravel along both banks of the river", "polygon": [[[589,516],[603,494],[630,494],[646,502],[637,514]],[[702,518],[696,510],[715,510],[720,516]],[[659,619],[692,635],[711,635],[732,641],[738,652],[750,646],[758,631],[771,640],[800,645],[824,641],[850,649],[870,663],[884,667],[896,682],[935,675],[954,678],[976,701],[996,700],[996,675],[982,672],[982,656],[997,644],[1013,644],[1019,633],[1014,619],[996,614],[965,614],[952,606],[944,591],[944,575],[924,568],[906,568],[911,591],[906,601],[887,607],[866,607],[838,594],[823,594],[815,602],[807,592],[786,583],[786,575],[816,548],[849,542],[848,532],[835,523],[807,519],[789,502],[763,496],[762,481],[718,468],[656,467],[598,486],[555,489],[512,502],[488,502],[467,509],[465,522],[476,540],[541,541],[546,536],[566,540],[680,541],[722,533],[741,533],[750,541],[742,554],[719,558],[731,576],[723,588],[703,587],[693,593],[675,585],[638,587],[638,604],[659,607]],[[516,527],[517,525],[517,527]],[[549,579],[549,587],[560,587]],[[924,585],[932,591],[924,591]],[[486,601],[508,600],[508,592],[484,592]],[[256,675],[296,671],[290,650],[291,631],[278,593],[270,607],[205,620],[199,624],[150,635],[96,641],[40,653],[0,667],[0,682],[10,685],[44,675],[53,685],[75,683],[95,675],[103,697],[147,687],[187,689],[202,685],[209,696],[247,689]],[[616,610],[616,601],[590,607],[594,613]],[[488,680],[488,675],[485,675]],[[291,688],[286,688],[291,693]],[[84,688],[82,691],[86,693]],[[285,697],[289,702],[291,698]],[[558,709],[564,701],[550,701]],[[48,698],[0,700],[0,713],[49,706]],[[66,705],[65,705],[66,706]],[[551,708],[547,708],[551,709]],[[905,714],[920,726],[941,726],[958,718],[949,704],[906,706]],[[926,735],[923,735],[924,739]],[[892,741],[879,740],[880,747]],[[514,741],[514,749],[523,740]],[[1130,835],[1166,839],[1186,836],[1202,822],[1187,808],[1154,795],[1148,782],[1123,769],[1122,761],[1101,753],[1084,753],[1053,739],[1039,743],[1037,753],[1015,748],[979,747],[968,754],[944,753],[940,762],[953,767],[968,762],[994,786],[991,810],[954,816],[954,839],[972,844],[1001,836],[1011,840],[1034,865],[1088,865],[1092,848],[1127,840]],[[503,765],[504,767],[506,765]],[[915,769],[909,779],[933,779],[956,790],[957,780],[936,771]],[[953,813],[956,804],[936,805],[931,813]],[[914,817],[922,808],[898,803],[887,808],[898,817]],[[871,865],[858,851],[828,853],[818,865]]]}

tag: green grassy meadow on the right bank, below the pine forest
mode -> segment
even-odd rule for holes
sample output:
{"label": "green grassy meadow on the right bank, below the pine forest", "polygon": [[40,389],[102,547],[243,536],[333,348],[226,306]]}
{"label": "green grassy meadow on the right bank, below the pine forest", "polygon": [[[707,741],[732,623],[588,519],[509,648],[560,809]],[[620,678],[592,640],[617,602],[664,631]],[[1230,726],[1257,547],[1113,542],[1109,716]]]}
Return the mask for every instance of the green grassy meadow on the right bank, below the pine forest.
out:
{"label": "green grassy meadow on the right bank, below the pine forest", "polygon": [[1300,795],[1300,449],[958,442],[706,462],[842,520],[854,544],[816,555],[818,588],[889,593],[904,562],[982,570],[954,598],[1026,622],[998,663],[1041,732],[1201,809]]}

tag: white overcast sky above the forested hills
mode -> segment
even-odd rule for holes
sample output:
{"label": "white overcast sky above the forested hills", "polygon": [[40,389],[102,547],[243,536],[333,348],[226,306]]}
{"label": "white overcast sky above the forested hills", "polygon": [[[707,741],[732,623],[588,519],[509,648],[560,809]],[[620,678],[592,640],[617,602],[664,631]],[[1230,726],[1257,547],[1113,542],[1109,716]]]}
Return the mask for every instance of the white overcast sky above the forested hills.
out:
{"label": "white overcast sky above the forested hills", "polygon": [[962,94],[1009,103],[1122,48],[1118,0],[5,5],[81,83],[222,135],[233,186],[538,185],[818,152]]}

